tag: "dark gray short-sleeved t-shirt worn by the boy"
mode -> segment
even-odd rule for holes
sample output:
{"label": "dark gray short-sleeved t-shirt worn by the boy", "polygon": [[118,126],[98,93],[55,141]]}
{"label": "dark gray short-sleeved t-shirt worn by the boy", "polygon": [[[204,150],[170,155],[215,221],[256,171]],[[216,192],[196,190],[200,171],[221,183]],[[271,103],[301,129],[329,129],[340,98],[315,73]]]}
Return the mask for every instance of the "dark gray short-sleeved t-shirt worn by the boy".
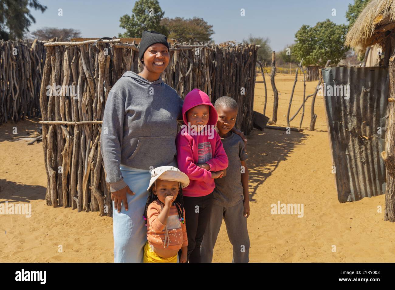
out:
{"label": "dark gray short-sleeved t-shirt worn by the boy", "polygon": [[243,200],[241,184],[241,161],[247,159],[243,139],[237,134],[221,138],[222,145],[228,156],[229,165],[226,176],[215,179],[213,203],[221,206],[234,206]]}

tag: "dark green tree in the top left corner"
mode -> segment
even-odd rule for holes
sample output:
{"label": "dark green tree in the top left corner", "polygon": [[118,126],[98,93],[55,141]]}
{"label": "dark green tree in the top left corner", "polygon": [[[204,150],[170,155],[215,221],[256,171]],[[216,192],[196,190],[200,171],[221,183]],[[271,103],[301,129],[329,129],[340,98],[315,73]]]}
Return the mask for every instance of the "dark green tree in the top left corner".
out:
{"label": "dark green tree in the top left corner", "polygon": [[28,27],[36,23],[36,19],[30,13],[29,7],[44,11],[43,6],[37,0],[0,0],[0,37],[4,40],[22,39]]}

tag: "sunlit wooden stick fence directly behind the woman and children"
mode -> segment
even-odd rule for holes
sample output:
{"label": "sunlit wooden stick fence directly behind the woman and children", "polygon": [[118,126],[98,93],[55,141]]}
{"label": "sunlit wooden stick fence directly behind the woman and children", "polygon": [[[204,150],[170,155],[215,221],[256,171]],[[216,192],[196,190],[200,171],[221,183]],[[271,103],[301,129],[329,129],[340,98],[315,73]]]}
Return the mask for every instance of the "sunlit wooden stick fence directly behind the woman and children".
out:
{"label": "sunlit wooden stick fence directly behind the woman and children", "polygon": [[[138,47],[108,40],[56,43],[54,39],[45,46],[40,123],[46,203],[112,216],[100,153],[101,120],[113,84],[126,71],[142,71]],[[194,88],[205,91],[213,103],[223,95],[232,97],[239,104],[236,127],[249,134],[257,50],[256,45],[175,44],[162,78],[181,97]]]}

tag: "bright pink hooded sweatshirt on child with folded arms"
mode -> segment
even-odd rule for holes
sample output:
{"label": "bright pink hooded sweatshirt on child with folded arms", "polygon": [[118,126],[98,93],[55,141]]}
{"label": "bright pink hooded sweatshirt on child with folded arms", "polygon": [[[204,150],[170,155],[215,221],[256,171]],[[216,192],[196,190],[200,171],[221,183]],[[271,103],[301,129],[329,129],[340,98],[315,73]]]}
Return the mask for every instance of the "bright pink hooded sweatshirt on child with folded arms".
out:
{"label": "bright pink hooded sweatshirt on child with folded arms", "polygon": [[[209,96],[203,91],[193,89],[185,96],[182,106],[184,124],[188,126],[186,112],[199,105],[210,107],[208,130],[202,130],[206,133],[197,135],[196,131],[186,132],[187,130],[181,128],[176,138],[178,168],[188,175],[190,180],[189,185],[182,189],[182,194],[189,197],[205,196],[213,192],[215,183],[214,178],[211,178],[211,171],[220,171],[228,167],[228,156],[222,146],[221,138],[214,126],[209,126],[216,125],[218,113],[211,104]],[[210,171],[196,165],[203,163],[210,165]]]}

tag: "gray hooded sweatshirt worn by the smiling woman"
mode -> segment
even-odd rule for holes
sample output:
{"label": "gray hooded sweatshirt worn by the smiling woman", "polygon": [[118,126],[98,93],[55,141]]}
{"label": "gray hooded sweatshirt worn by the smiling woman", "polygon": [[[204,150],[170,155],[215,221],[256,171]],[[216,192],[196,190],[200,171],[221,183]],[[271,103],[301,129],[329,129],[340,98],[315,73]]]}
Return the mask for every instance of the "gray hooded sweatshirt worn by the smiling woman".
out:
{"label": "gray hooded sweatshirt worn by the smiling woman", "polygon": [[126,186],[120,164],[147,170],[177,166],[175,138],[183,102],[162,78],[150,82],[127,71],[115,83],[105,104],[100,136],[111,192]]}

